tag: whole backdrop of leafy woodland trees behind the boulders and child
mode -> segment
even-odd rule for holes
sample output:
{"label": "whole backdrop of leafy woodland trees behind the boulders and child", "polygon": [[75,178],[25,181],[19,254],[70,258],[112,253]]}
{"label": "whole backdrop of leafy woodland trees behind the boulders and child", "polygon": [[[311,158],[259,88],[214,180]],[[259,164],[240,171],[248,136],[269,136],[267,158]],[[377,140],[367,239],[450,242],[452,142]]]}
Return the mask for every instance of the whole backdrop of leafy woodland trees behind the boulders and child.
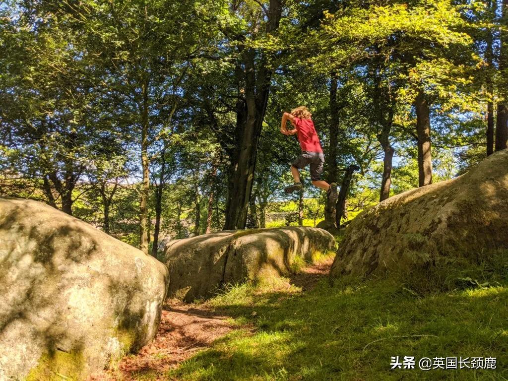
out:
{"label": "whole backdrop of leafy woodland trees behind the boulders and child", "polygon": [[[152,255],[337,227],[506,148],[507,19],[508,0],[3,1],[0,194]],[[300,147],[280,119],[301,105],[336,209],[308,171],[283,192]]]}

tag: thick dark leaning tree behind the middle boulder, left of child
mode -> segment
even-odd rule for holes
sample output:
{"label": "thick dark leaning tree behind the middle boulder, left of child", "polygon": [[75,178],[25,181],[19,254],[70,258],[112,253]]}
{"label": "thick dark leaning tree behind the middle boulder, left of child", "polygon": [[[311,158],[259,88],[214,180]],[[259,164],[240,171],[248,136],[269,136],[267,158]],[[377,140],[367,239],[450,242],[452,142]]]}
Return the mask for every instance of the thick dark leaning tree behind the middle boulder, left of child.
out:
{"label": "thick dark leaning tree behind the middle boulder, left of child", "polygon": [[252,9],[249,3],[234,4],[221,25],[221,31],[236,49],[234,80],[237,87],[233,133],[236,144],[230,151],[226,230],[245,228],[275,52],[278,50],[273,38],[282,10],[281,0],[270,0],[268,7],[260,3],[257,10]]}

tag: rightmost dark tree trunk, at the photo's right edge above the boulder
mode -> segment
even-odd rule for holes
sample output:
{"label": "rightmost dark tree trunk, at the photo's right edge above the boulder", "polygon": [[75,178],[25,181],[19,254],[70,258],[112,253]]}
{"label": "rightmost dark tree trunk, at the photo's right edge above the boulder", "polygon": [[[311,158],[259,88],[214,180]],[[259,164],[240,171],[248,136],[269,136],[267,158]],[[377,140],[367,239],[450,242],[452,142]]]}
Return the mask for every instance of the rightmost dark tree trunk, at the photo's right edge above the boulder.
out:
{"label": "rightmost dark tree trunk, at the photo's right edge above the boulder", "polygon": [[496,117],[496,151],[506,148],[508,140],[508,79],[505,70],[508,69],[508,0],[502,2],[501,25],[504,30],[500,32],[500,48],[499,48],[499,72],[501,73],[501,81],[497,88],[499,89],[500,101],[497,104]]}

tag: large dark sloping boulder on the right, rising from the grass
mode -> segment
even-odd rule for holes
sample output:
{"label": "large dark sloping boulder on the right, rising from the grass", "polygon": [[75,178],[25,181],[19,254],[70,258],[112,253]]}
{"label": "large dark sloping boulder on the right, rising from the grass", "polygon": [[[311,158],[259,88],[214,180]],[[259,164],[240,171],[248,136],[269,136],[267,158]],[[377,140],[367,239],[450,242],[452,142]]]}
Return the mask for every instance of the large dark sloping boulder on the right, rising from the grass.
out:
{"label": "large dark sloping boulder on the right, rising from the grass", "polygon": [[508,247],[508,150],[466,174],[412,189],[360,213],[347,228],[331,276],[406,271],[441,256]]}

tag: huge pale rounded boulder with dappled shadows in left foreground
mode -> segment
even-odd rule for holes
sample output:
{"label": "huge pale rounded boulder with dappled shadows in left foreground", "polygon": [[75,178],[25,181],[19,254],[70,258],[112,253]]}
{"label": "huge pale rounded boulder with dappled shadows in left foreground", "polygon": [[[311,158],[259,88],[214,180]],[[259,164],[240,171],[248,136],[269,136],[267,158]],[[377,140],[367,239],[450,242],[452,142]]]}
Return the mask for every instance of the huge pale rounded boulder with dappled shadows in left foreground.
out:
{"label": "huge pale rounded boulder with dappled shadows in left foreground", "polygon": [[166,266],[36,201],[0,198],[0,379],[84,379],[153,339]]}

